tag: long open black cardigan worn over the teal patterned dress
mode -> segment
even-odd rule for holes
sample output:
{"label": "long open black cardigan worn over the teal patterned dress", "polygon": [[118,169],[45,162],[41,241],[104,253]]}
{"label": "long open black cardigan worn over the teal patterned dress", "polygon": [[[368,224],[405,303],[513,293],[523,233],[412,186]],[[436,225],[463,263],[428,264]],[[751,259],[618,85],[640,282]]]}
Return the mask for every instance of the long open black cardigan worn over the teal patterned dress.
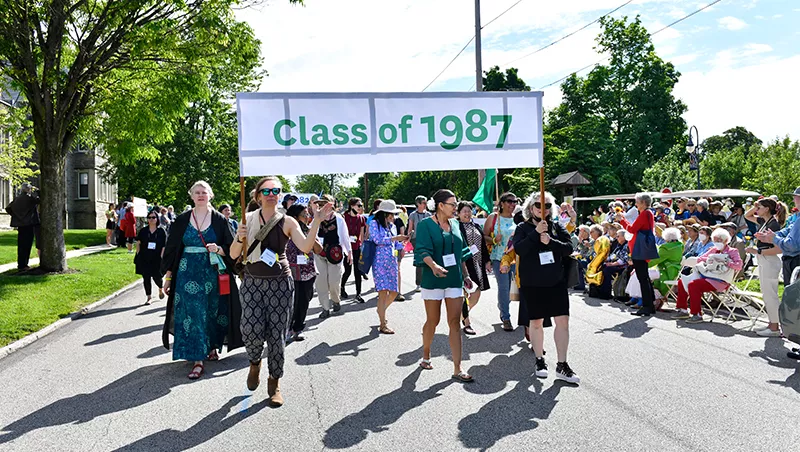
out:
{"label": "long open black cardigan worn over the teal patterned dress", "polygon": [[[167,246],[164,248],[164,257],[161,259],[161,274],[166,274],[167,271],[172,272],[172,281],[170,284],[169,298],[167,299],[167,315],[164,320],[164,330],[161,333],[161,340],[164,347],[169,350],[169,335],[174,331],[174,307],[175,307],[175,291],[173,290],[177,284],[178,265],[183,257],[183,234],[186,233],[186,228],[189,227],[189,218],[192,212],[184,212],[175,218],[169,230],[167,237]],[[239,323],[242,318],[242,307],[239,303],[239,288],[236,285],[235,273],[233,272],[233,260],[229,257],[231,245],[234,241],[233,230],[228,220],[216,210],[211,211],[211,227],[214,229],[214,234],[217,236],[217,245],[222,248],[225,256],[222,258],[227,267],[226,273],[231,277],[231,293],[230,295],[221,295],[219,297],[220,303],[228,306],[228,334],[225,337],[225,343],[228,345],[228,351],[235,348],[244,346],[242,341],[242,333],[239,329]]]}

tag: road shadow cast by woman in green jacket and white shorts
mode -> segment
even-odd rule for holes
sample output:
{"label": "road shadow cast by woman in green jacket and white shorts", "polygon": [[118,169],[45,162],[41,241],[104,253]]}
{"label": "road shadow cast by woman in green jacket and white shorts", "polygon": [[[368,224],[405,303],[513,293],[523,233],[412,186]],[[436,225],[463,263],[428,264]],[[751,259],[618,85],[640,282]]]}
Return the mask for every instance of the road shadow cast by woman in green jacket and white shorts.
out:
{"label": "road shadow cast by woman in green jacket and white shorts", "polygon": [[367,439],[370,433],[388,430],[389,426],[397,422],[405,413],[422,406],[428,400],[441,396],[440,391],[454,382],[454,380],[448,379],[423,391],[417,391],[417,380],[421,373],[421,368],[414,369],[403,380],[400,388],[378,397],[363,410],[332,425],[322,439],[325,447],[346,449],[361,443]]}

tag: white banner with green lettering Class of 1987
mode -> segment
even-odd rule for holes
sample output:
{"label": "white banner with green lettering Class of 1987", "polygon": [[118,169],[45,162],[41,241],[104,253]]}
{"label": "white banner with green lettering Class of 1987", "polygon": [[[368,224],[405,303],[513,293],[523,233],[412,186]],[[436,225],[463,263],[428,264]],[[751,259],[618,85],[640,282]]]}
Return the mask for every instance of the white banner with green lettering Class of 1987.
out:
{"label": "white banner with green lettering Class of 1987", "polygon": [[242,176],[538,168],[542,93],[240,93]]}

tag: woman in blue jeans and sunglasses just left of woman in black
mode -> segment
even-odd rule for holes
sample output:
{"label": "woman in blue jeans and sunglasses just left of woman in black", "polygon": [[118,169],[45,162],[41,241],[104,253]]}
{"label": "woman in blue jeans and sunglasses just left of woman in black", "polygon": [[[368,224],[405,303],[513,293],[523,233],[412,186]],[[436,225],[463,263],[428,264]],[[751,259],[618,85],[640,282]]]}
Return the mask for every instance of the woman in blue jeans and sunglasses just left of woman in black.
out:
{"label": "woman in blue jeans and sunglasses just left of woman in black", "polygon": [[508,273],[500,272],[500,261],[503,260],[506,245],[514,235],[514,208],[517,207],[517,196],[514,193],[503,193],[500,196],[499,210],[486,219],[483,224],[483,235],[486,244],[491,248],[489,257],[492,261],[492,270],[497,280],[497,308],[500,310],[500,321],[503,322],[504,331],[514,331],[511,325],[511,282],[514,281],[516,266],[511,266]]}

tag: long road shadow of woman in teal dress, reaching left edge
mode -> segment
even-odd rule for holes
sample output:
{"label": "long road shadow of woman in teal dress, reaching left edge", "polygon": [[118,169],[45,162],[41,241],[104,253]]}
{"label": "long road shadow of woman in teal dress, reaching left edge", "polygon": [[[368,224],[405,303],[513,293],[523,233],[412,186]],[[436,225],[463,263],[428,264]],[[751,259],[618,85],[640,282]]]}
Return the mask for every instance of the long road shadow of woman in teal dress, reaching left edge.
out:
{"label": "long road shadow of woman in teal dress, reaching left edge", "polygon": [[[247,366],[244,355],[206,364],[203,379],[218,378]],[[97,417],[129,410],[190,384],[191,364],[180,361],[136,369],[94,392],[57,400],[0,429],[0,444],[32,431],[66,424],[82,424]]]}

